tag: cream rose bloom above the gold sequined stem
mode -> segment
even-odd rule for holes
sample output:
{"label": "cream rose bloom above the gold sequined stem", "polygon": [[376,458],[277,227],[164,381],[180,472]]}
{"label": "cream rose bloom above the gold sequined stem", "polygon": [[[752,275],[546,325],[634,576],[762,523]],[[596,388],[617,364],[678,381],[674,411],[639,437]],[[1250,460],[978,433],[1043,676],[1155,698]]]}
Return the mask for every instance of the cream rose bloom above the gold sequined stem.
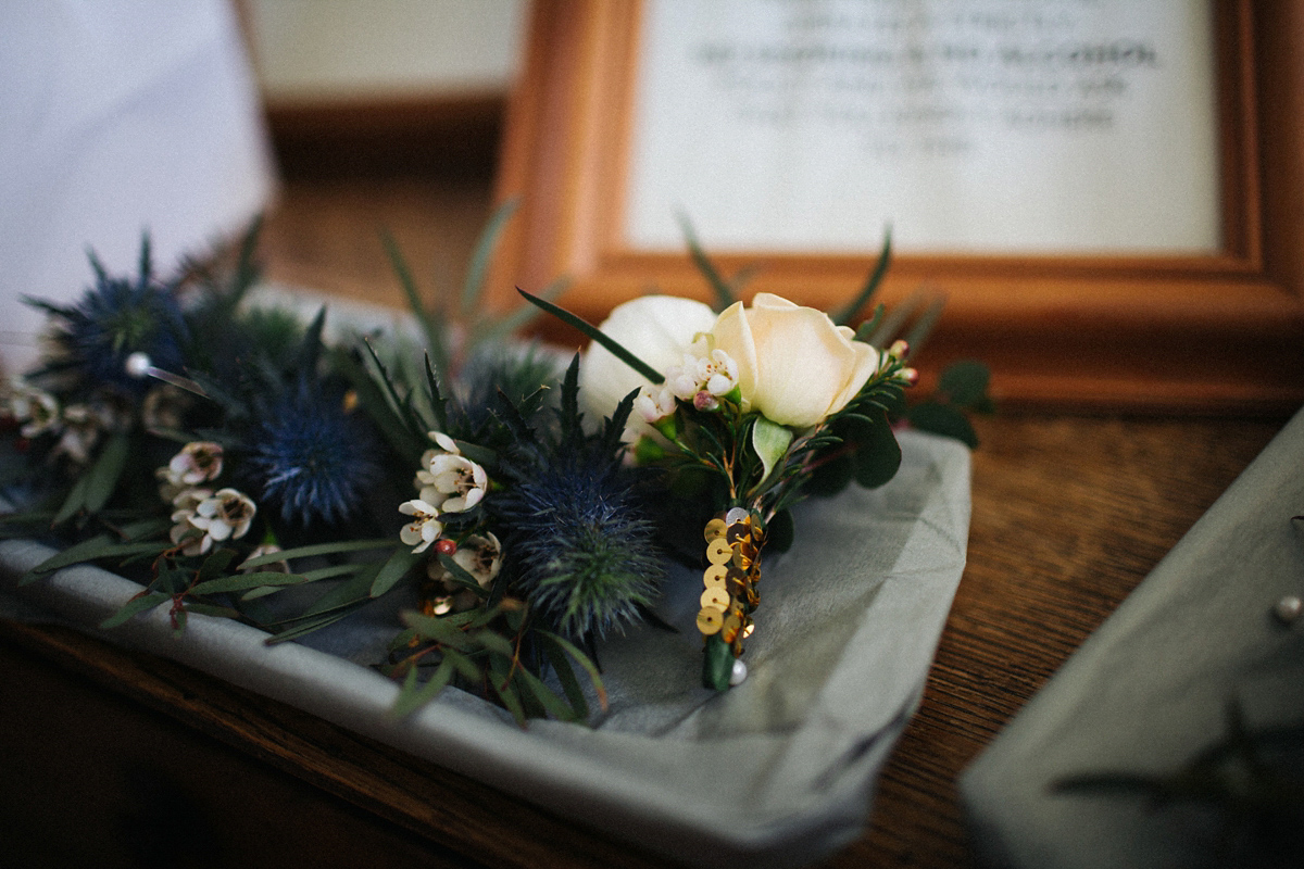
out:
{"label": "cream rose bloom above the gold sequined stem", "polygon": [[713,347],[738,363],[745,406],[794,429],[841,410],[878,370],[879,352],[854,336],[772,293],[758,293],[751,307],[730,305],[711,328]]}

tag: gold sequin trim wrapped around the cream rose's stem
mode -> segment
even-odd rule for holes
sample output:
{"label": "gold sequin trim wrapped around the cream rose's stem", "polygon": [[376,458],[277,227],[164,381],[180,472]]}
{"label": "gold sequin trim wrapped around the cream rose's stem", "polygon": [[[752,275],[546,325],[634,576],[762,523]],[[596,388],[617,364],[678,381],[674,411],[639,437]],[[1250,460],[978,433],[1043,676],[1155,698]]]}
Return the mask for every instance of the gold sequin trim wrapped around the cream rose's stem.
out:
{"label": "gold sequin trim wrapped around the cream rose's stem", "polygon": [[702,575],[698,631],[703,637],[719,633],[737,658],[742,654],[742,641],[751,636],[751,614],[760,603],[756,582],[765,533],[750,511],[734,507],[707,522],[704,537],[711,564]]}

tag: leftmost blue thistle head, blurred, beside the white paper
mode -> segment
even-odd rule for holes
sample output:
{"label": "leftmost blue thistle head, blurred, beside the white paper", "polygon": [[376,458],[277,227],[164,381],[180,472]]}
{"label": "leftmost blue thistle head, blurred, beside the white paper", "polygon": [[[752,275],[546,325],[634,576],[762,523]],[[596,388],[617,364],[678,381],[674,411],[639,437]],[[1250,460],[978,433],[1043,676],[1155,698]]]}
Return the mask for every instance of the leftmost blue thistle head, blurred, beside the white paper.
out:
{"label": "leftmost blue thistle head, blurred, beside the white paper", "polygon": [[61,321],[53,335],[61,352],[38,374],[73,374],[82,387],[107,384],[140,396],[150,383],[126,373],[126,357],[145,353],[155,366],[180,371],[185,321],[171,288],[154,279],[147,236],[134,280],[110,276],[95,254],[90,263],[95,284],[76,306],[26,300]]}

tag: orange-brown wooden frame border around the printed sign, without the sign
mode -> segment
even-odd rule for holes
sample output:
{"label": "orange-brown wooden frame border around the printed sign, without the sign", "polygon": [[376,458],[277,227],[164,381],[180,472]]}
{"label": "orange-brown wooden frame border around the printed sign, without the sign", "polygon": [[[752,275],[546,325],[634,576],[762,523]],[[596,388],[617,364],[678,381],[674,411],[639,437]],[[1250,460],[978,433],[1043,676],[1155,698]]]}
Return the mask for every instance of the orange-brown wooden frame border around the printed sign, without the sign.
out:
{"label": "orange-brown wooden frame border around the printed sign, without the sign", "polygon": [[[536,0],[509,106],[499,198],[516,197],[492,285],[569,276],[569,309],[599,322],[656,288],[709,300],[687,251],[622,237],[639,47],[638,0]],[[1304,0],[1217,0],[1222,249],[1209,255],[908,255],[880,292],[947,307],[919,362],[994,371],[1005,406],[1281,413],[1304,403]],[[722,251],[762,270],[746,293],[825,310],[872,268],[863,254]],[[556,336],[557,332],[553,332]]]}

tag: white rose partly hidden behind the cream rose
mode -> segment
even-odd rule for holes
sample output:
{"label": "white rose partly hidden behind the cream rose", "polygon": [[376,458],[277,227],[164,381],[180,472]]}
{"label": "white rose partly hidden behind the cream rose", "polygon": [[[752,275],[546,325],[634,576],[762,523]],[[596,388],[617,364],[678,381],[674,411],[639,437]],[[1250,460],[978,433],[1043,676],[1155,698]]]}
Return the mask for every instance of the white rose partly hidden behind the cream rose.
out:
{"label": "white rose partly hidden behind the cream rose", "polygon": [[[699,332],[709,332],[715,322],[715,311],[703,302],[677,296],[643,296],[618,305],[599,328],[665,374],[683,361],[692,339]],[[591,344],[579,366],[580,406],[585,422],[596,426],[602,417],[612,416],[621,399],[640,386],[651,384],[605,347]],[[638,430],[644,430],[638,414],[634,420]],[[634,427],[631,425],[627,433]]]}

